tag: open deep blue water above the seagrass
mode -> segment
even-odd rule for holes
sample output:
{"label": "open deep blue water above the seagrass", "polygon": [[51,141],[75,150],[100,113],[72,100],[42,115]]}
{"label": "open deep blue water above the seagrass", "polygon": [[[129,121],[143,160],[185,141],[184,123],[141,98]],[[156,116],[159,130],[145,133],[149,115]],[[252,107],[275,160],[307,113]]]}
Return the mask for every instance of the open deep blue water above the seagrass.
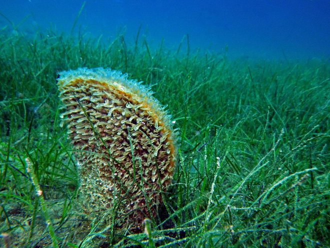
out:
{"label": "open deep blue water above the seagrass", "polygon": [[[0,0],[0,30],[13,29],[10,20],[27,36],[70,33],[83,2]],[[191,51],[227,48],[232,58],[330,58],[330,0],[87,0],[74,32],[105,42],[124,33],[129,43],[139,27],[141,39],[168,49],[188,35]]]}

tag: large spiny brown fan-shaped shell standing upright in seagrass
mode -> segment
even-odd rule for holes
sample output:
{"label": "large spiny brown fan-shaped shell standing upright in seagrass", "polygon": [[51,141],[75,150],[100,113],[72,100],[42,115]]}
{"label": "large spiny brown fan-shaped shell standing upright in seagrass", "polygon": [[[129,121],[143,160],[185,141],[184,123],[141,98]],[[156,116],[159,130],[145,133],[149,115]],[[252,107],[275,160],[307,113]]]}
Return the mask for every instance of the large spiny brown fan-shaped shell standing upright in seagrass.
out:
{"label": "large spiny brown fan-shaped shell standing upright in seagrass", "polygon": [[173,176],[169,115],[149,88],[118,71],[65,71],[57,85],[85,212],[116,216],[118,228],[141,229],[143,219],[156,214]]}

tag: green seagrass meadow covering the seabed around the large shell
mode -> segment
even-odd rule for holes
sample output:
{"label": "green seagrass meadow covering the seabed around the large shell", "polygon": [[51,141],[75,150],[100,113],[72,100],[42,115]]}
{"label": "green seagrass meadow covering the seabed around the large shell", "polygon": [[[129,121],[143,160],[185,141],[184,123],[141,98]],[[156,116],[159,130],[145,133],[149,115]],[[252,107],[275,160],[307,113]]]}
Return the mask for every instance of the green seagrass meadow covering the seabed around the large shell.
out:
{"label": "green seagrass meadow covering the seabed around the large shell", "polygon": [[[329,60],[233,60],[187,41],[0,31],[1,247],[330,246]],[[106,224],[82,210],[56,78],[84,67],[142,81],[175,122],[173,179],[144,232],[117,229],[115,207]]]}

